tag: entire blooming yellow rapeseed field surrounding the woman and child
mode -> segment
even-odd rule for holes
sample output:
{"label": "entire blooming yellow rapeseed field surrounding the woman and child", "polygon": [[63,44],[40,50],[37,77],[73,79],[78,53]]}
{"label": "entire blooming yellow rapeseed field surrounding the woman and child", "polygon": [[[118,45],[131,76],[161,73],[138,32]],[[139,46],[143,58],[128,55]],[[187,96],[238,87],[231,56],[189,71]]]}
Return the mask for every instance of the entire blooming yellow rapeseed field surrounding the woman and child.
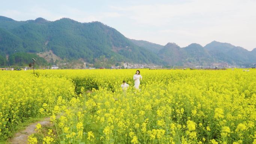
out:
{"label": "entire blooming yellow rapeseed field surrounding the woman and child", "polygon": [[13,115],[45,115],[54,126],[29,144],[256,144],[255,69],[141,69],[140,91],[135,72],[0,72],[0,137],[17,125]]}

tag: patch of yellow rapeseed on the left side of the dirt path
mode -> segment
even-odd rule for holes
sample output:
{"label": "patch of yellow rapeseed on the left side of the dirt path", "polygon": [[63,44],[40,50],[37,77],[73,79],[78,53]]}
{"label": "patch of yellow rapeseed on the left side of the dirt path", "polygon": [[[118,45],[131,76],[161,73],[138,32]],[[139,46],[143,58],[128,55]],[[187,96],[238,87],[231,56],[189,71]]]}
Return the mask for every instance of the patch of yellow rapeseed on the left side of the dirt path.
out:
{"label": "patch of yellow rapeseed on the left side of the dirt path", "polygon": [[74,85],[59,77],[28,71],[0,71],[0,141],[32,117],[51,115],[55,105],[74,96]]}

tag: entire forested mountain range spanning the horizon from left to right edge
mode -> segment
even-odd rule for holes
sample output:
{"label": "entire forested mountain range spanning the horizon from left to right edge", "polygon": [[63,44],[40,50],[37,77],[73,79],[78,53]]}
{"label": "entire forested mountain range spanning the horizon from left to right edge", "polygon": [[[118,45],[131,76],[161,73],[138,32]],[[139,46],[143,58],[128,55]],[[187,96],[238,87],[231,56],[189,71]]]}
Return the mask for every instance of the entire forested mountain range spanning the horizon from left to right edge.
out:
{"label": "entire forested mountain range spanning the horizon from left to right edge", "polygon": [[[158,65],[229,65],[256,63],[256,49],[248,51],[229,43],[213,41],[206,46],[196,43],[180,48],[144,40],[126,38],[101,22],[81,23],[68,18],[47,21],[43,18],[15,21],[0,16],[0,65],[25,64],[33,53],[53,52],[60,59],[93,64],[107,62],[153,63]],[[19,55],[18,55],[19,54]],[[13,60],[14,59],[14,60]],[[47,65],[40,59],[40,64]]]}

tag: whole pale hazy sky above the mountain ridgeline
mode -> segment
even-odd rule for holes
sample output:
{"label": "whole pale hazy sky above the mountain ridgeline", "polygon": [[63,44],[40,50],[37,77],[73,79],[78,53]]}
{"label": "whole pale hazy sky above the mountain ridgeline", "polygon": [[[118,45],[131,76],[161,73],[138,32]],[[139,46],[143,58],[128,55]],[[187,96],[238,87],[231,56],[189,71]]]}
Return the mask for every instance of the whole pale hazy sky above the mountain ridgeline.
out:
{"label": "whole pale hazy sky above the mountain ridgeline", "polygon": [[[256,48],[256,0],[0,0],[0,15],[100,21],[125,37],[160,45],[216,40]],[[3,2],[4,1],[4,2]]]}

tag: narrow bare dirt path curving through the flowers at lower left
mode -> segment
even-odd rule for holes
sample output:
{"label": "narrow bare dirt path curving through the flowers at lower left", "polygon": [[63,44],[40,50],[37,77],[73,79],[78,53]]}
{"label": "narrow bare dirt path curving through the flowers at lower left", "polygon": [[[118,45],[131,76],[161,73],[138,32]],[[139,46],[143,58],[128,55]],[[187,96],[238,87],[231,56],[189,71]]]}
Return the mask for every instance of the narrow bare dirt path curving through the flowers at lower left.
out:
{"label": "narrow bare dirt path curving through the flowers at lower left", "polygon": [[36,133],[36,125],[40,123],[42,126],[50,125],[50,118],[46,118],[42,121],[31,123],[27,128],[21,132],[18,132],[14,135],[14,137],[10,140],[10,144],[27,144],[28,136]]}

